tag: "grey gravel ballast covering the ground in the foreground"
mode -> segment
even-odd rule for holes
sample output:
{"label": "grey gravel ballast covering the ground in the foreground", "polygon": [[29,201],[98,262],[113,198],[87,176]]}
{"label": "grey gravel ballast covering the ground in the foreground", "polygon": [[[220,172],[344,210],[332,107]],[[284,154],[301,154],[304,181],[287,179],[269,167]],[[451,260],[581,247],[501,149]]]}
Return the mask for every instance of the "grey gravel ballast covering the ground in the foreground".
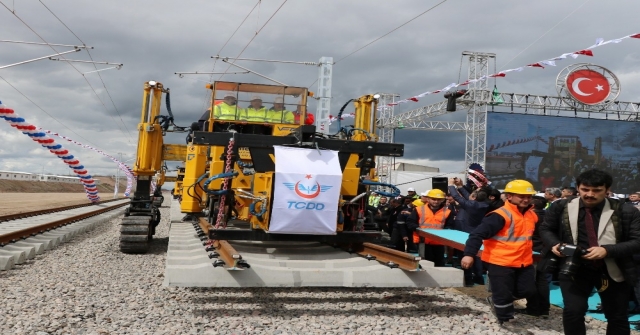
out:
{"label": "grey gravel ballast covering the ground in the foreground", "polygon": [[[455,289],[163,287],[161,211],[149,254],[119,252],[115,219],[0,272],[0,334],[514,334]],[[605,333],[588,320],[587,334]],[[515,325],[562,334],[558,309]]]}

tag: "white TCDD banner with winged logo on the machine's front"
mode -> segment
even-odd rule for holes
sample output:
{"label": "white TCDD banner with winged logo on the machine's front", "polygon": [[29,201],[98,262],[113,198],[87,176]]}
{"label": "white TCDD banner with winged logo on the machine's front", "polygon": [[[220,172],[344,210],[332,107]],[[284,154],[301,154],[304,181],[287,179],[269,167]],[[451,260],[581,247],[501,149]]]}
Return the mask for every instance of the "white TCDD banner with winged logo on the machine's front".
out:
{"label": "white TCDD banner with winged logo on the machine's front", "polygon": [[342,170],[338,152],[274,147],[276,176],[270,233],[336,233]]}

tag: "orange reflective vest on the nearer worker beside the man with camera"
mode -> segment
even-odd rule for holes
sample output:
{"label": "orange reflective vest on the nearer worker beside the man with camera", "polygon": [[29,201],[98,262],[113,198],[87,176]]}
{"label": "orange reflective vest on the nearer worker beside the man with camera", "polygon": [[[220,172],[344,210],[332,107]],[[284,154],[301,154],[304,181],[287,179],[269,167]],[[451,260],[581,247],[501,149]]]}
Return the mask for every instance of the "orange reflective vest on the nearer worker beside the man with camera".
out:
{"label": "orange reflective vest on the nearer worker beside the man with camera", "polygon": [[522,267],[533,264],[533,231],[538,216],[529,209],[520,213],[518,206],[506,202],[496,209],[496,213],[504,218],[505,224],[493,237],[484,240],[481,259],[487,263]]}

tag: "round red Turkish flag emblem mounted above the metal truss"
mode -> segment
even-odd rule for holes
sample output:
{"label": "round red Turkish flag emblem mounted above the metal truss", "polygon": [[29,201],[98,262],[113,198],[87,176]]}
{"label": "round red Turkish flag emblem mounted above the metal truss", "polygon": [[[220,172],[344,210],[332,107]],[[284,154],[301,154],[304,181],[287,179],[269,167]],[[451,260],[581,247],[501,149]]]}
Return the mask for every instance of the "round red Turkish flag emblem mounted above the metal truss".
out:
{"label": "round red Turkish flag emblem mounted above the metal truss", "polygon": [[596,105],[607,99],[611,93],[609,80],[594,70],[578,70],[567,76],[567,90],[578,102]]}

